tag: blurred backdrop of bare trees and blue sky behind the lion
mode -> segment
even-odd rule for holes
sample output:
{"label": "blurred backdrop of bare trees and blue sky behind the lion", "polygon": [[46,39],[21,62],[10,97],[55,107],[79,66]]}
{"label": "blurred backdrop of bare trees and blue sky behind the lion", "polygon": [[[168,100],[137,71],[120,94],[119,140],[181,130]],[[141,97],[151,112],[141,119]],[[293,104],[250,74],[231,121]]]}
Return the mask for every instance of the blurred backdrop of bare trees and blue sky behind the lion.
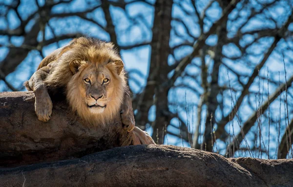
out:
{"label": "blurred backdrop of bare trees and blue sky behind the lion", "polygon": [[112,41],[158,144],[293,158],[293,0],[0,0],[0,92],[42,58]]}

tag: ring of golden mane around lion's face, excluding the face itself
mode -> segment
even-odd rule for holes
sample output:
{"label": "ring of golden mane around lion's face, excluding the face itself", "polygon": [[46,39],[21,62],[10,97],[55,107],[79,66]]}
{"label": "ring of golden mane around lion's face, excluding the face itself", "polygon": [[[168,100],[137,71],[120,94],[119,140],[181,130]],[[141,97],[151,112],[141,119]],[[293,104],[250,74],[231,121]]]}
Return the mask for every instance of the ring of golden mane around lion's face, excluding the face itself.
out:
{"label": "ring of golden mane around lion's face, excluding the face itself", "polygon": [[[112,120],[114,115],[119,113],[126,83],[124,75],[120,74],[119,76],[111,64],[105,64],[100,67],[98,66],[98,68],[96,65],[96,63],[85,63],[77,75],[70,79],[66,87],[66,98],[72,110],[78,112],[79,116],[83,119],[89,120],[89,122],[98,122],[100,124],[101,122],[104,123],[104,120]],[[82,77],[84,74],[93,69],[102,69],[100,74],[104,74],[106,71],[109,71],[109,75],[111,77],[111,82],[109,83],[110,85],[107,89],[107,98],[105,99],[105,101],[107,101],[106,108],[102,113],[91,112],[86,105],[86,102],[89,102],[88,100],[90,100],[90,98],[85,95]]]}

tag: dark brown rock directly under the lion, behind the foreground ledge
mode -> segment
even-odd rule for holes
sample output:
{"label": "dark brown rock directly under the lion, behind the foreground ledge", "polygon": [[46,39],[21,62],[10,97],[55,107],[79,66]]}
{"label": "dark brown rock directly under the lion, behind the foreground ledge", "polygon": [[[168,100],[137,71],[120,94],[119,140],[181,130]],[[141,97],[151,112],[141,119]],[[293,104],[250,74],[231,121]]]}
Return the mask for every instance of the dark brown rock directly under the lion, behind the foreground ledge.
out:
{"label": "dark brown rock directly under the lion, behind the foreground ledge", "polygon": [[33,92],[0,93],[0,166],[20,166],[82,157],[114,147],[140,144],[123,129],[120,115],[105,126],[90,126],[65,102],[54,101],[51,119],[38,120]]}

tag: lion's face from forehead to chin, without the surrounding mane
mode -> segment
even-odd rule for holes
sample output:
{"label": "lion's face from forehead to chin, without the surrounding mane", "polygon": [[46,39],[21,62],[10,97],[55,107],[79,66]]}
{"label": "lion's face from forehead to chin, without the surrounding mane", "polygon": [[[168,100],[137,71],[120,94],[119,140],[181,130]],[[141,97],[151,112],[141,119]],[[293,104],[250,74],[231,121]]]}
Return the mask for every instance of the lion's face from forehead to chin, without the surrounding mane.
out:
{"label": "lion's face from forehead to chin, without the surrounding mane", "polygon": [[80,90],[85,93],[84,104],[93,114],[104,112],[115,89],[110,71],[103,66],[99,68],[90,66],[82,72],[80,78],[83,82]]}

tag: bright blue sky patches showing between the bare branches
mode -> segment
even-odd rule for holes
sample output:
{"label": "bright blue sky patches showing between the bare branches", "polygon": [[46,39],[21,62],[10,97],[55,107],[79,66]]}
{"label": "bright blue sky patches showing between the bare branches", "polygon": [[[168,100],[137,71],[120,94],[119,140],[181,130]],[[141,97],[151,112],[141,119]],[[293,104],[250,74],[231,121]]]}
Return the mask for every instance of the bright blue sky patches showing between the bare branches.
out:
{"label": "bright blue sky patches showing between the bare branches", "polygon": [[[42,6],[44,4],[44,0],[38,0],[39,4]],[[129,0],[131,1],[131,0]],[[0,3],[6,3],[9,4],[11,0],[0,0]],[[70,5],[64,6],[63,4],[57,5],[52,9],[52,13],[64,13],[64,12],[76,12],[76,11],[83,11],[84,9],[87,9],[89,6],[94,6],[95,2],[93,2],[90,5],[86,5],[84,3],[84,0],[74,0],[73,3]],[[150,3],[154,3],[155,0],[148,0]],[[175,4],[172,8],[172,17],[178,18],[184,20],[184,23],[188,25],[188,31],[191,33],[193,37],[199,37],[200,30],[199,26],[197,24],[197,18],[192,16],[194,14],[192,7],[190,6],[190,2],[188,0],[174,0]],[[255,10],[260,9],[261,7],[258,5],[256,0],[251,0],[251,7],[253,7]],[[262,29],[262,28],[274,28],[275,25],[280,27],[285,19],[286,15],[290,14],[290,8],[284,6],[285,2],[288,2],[289,4],[292,3],[291,0],[289,1],[280,1],[279,4],[273,6],[272,10],[270,8],[267,8],[264,11],[265,15],[269,15],[272,19],[275,20],[275,22],[269,21],[267,19],[263,19],[263,17],[255,17],[254,19],[251,19],[246,26],[244,26],[241,31],[246,32],[253,29]],[[190,12],[191,15],[188,15],[186,12],[182,10],[182,8],[179,7],[178,4],[182,3],[182,6],[187,10],[187,12]],[[198,11],[201,12],[205,6],[209,3],[209,1],[199,1],[197,4]],[[286,5],[286,4],[285,4]],[[241,4],[238,5],[238,9],[241,6]],[[26,19],[28,15],[30,15],[32,12],[37,10],[37,6],[31,1],[31,0],[22,0],[21,6],[19,8],[19,13],[21,15],[22,19]],[[291,10],[292,11],[292,10]],[[154,8],[152,6],[147,5],[143,2],[137,2],[132,3],[130,5],[126,6],[126,10],[119,7],[113,7],[110,8],[111,16],[113,19],[113,23],[115,25],[116,32],[118,33],[118,43],[120,45],[129,45],[129,44],[135,44],[142,41],[150,41],[152,34],[150,32],[150,28],[153,24],[153,14],[154,14]],[[207,10],[207,15],[209,15],[209,19],[205,19],[205,26],[204,31],[207,32],[211,26],[211,23],[221,16],[222,10],[219,8],[219,4],[217,2],[214,2],[211,7]],[[239,13],[239,14],[238,14]],[[251,14],[250,9],[245,9],[240,12],[234,11],[230,14],[230,19],[233,19],[236,16],[241,17],[241,19],[237,19],[237,21],[229,21],[227,28],[229,31],[228,37],[232,38],[237,34],[238,27],[241,25],[241,22],[243,20],[246,20],[247,17],[249,17]],[[284,16],[285,15],[285,16]],[[127,17],[128,16],[128,17]],[[103,10],[101,8],[98,8],[97,10],[93,11],[92,13],[87,14],[88,18],[96,20],[101,26],[105,26],[105,16],[103,13]],[[7,15],[8,22],[6,22],[3,17],[0,17],[0,29],[14,29],[17,28],[20,24],[20,21],[17,19],[16,14],[13,11],[10,11]],[[135,18],[143,18],[138,21],[137,24],[133,24],[133,22],[129,21],[130,19]],[[143,21],[142,21],[143,20]],[[34,21],[31,21],[26,26],[25,30],[29,32],[31,29],[31,26],[34,24]],[[78,31],[83,33],[86,36],[90,37],[98,37],[100,39],[109,41],[110,37],[109,35],[101,29],[99,26],[93,25],[92,23],[88,21],[81,21],[81,19],[77,17],[70,17],[67,19],[60,19],[60,18],[53,18],[49,21],[49,24],[54,28],[55,32],[57,34],[61,33],[72,33],[73,31]],[[187,37],[186,33],[187,30],[184,26],[184,24],[173,20],[171,22],[172,30],[171,30],[171,38],[170,38],[170,46],[176,46],[177,44],[180,44],[184,41],[194,42],[194,38]],[[293,24],[289,26],[289,30],[293,30]],[[184,37],[178,37],[177,35],[182,35]],[[45,29],[45,39],[50,39],[53,37],[53,34],[51,30],[46,27]],[[240,40],[240,45],[244,46],[250,42],[253,41],[255,36],[253,35],[245,35]],[[42,33],[39,34],[38,40],[42,41]],[[206,43],[210,46],[213,46],[217,43],[218,38],[215,35],[210,36]],[[70,39],[63,40],[54,44],[51,44],[49,46],[46,46],[43,48],[42,53],[44,56],[49,55],[52,51],[57,49],[58,47],[62,47],[63,45],[66,45]],[[21,46],[23,42],[22,37],[12,37],[11,43],[15,46]],[[272,43],[272,37],[264,37],[258,41],[258,43],[254,44],[249,48],[251,53],[254,55],[248,55],[245,60],[230,60],[228,58],[223,58],[223,62],[231,68],[233,71],[241,72],[245,75],[248,75],[247,77],[242,77],[241,81],[246,82],[248,80],[249,75],[251,75],[253,68],[259,61],[262,59],[263,54],[266,52],[268,46],[270,46]],[[7,55],[9,49],[5,47],[5,45],[8,44],[8,37],[0,36],[0,44],[4,45],[0,47],[0,60],[4,59]],[[293,75],[293,67],[291,63],[290,56],[293,56],[292,50],[287,50],[286,47],[293,47],[292,41],[287,42],[280,42],[278,45],[280,45],[279,51],[274,51],[272,55],[267,60],[265,66],[260,70],[259,75],[266,77],[269,75],[271,80],[280,81],[283,83],[285,81],[284,76],[284,61],[286,65],[287,70],[287,78],[289,78],[291,75]],[[169,56],[168,63],[172,65],[176,60],[181,59],[182,57],[188,55],[191,53],[192,48],[185,46],[178,48],[174,51],[174,56]],[[140,93],[142,89],[146,85],[146,78],[148,75],[149,70],[149,62],[150,62],[150,52],[151,48],[149,45],[134,48],[131,50],[121,50],[121,55],[123,58],[123,61],[125,63],[126,70],[129,72],[129,85],[131,87],[131,90],[133,93]],[[237,57],[240,56],[240,51],[234,44],[228,44],[223,47],[223,54],[228,57]],[[257,55],[255,55],[257,54]],[[283,54],[285,57],[283,57]],[[287,58],[288,56],[288,58]],[[283,61],[284,59],[284,61]],[[34,71],[36,71],[39,63],[41,62],[42,57],[40,56],[39,52],[37,51],[31,51],[29,55],[25,58],[25,60],[17,67],[16,71],[11,73],[10,75],[7,75],[6,80],[10,82],[15,88],[18,88],[21,91],[24,91],[24,87],[22,87],[22,83],[29,79],[29,77],[33,74]],[[209,65],[209,72],[212,71],[212,65],[213,60],[210,59],[208,56],[206,58],[208,65]],[[197,77],[198,81],[194,81],[188,77],[181,77],[176,81],[176,84],[179,85],[182,82],[186,83],[188,82],[188,85],[190,85],[196,92],[199,94],[203,93],[203,89],[199,85],[201,82],[200,80],[200,69],[197,68],[197,66],[201,65],[201,60],[199,58],[194,58],[192,63],[194,66],[188,66],[185,73],[191,74]],[[279,76],[280,72],[280,76]],[[171,75],[171,73],[170,73]],[[219,76],[219,85],[220,86],[230,86],[233,89],[241,89],[241,85],[239,82],[235,81],[237,77],[231,73],[231,71],[224,65],[220,67],[220,76]],[[210,77],[209,77],[210,80]],[[239,108],[239,119],[235,118],[232,120],[230,125],[227,127],[227,131],[231,132],[234,131],[234,133],[238,133],[240,131],[240,126],[238,124],[238,121],[241,122],[246,121],[249,116],[255,111],[255,108],[259,107],[266,99],[267,99],[267,90],[269,88],[269,92],[272,93],[274,90],[278,88],[278,85],[269,84],[265,80],[255,80],[251,91],[258,92],[262,94],[255,94],[250,96],[249,98],[246,97],[244,104]],[[0,81],[0,92],[1,91],[7,91],[6,85],[3,83],[3,81]],[[9,90],[8,90],[9,91]],[[289,91],[292,93],[292,90],[289,89]],[[190,125],[189,129],[191,132],[195,130],[195,125],[197,121],[197,104],[199,100],[201,99],[198,95],[198,93],[194,93],[192,90],[188,90],[186,88],[172,88],[169,92],[168,98],[169,102],[175,103],[173,106],[170,106],[171,112],[178,112],[181,118],[185,121],[188,121],[188,124]],[[231,105],[233,105],[233,102],[235,102],[235,99],[237,96],[239,96],[240,92],[231,92],[230,90],[226,90],[223,94],[223,96],[219,96],[218,100],[223,100],[223,103],[225,105],[223,112],[221,110],[217,110],[217,113],[215,114],[215,117],[220,119],[222,115],[227,115],[231,110]],[[235,96],[236,95],[236,98]],[[282,99],[277,99],[273,104],[270,111],[272,111],[273,117],[277,118],[279,116],[284,116],[284,111],[286,106],[281,106],[280,103],[282,102]],[[290,97],[290,99],[292,99]],[[281,101],[281,102],[280,102]],[[251,108],[248,103],[253,103],[253,108]],[[186,103],[188,110],[185,110],[185,107],[178,106],[179,104],[176,103]],[[280,110],[279,110],[280,109]],[[292,117],[291,111],[292,108],[288,109],[290,111],[290,117]],[[204,123],[205,119],[204,116],[206,115],[205,109],[201,113],[202,116],[202,122],[201,122],[201,128],[200,131],[204,131]],[[149,120],[152,121],[155,119],[155,107],[152,107],[149,112]],[[263,132],[264,132],[264,139],[268,135],[268,127],[266,118],[260,118],[261,123],[264,124]],[[171,124],[173,124],[175,127],[178,127],[180,124],[178,120],[173,119],[171,121]],[[274,130],[276,125],[272,125],[270,134],[271,138],[274,139],[274,141],[271,141],[270,146],[272,148],[276,147],[276,138],[277,138],[277,131]],[[179,133],[178,128],[175,128],[172,126],[168,127],[169,131],[172,131],[174,133]],[[254,129],[257,129],[257,126],[253,127]],[[285,126],[283,125],[281,127],[281,132],[283,132],[285,129]],[[148,128],[146,129],[149,133],[152,133],[152,129]],[[266,135],[265,135],[266,134]],[[248,144],[251,146],[253,145],[253,141],[249,141],[249,139],[253,139],[253,136],[255,136],[254,131],[251,131],[248,134]],[[202,137],[202,136],[201,136]],[[201,140],[200,140],[201,141]],[[267,144],[267,139],[265,139]],[[181,141],[178,138],[175,138],[172,135],[167,135],[165,139],[166,144],[173,144],[173,145],[179,145],[179,146],[188,146],[188,143],[185,141]],[[217,146],[219,150],[221,148],[225,148],[224,142],[217,142]],[[223,150],[224,151],[224,150]],[[224,152],[220,153],[224,153]],[[241,155],[242,154],[242,155]],[[274,152],[270,152],[270,154],[274,155]],[[248,156],[247,152],[239,152],[236,156]],[[265,156],[265,155],[263,155]]]}

